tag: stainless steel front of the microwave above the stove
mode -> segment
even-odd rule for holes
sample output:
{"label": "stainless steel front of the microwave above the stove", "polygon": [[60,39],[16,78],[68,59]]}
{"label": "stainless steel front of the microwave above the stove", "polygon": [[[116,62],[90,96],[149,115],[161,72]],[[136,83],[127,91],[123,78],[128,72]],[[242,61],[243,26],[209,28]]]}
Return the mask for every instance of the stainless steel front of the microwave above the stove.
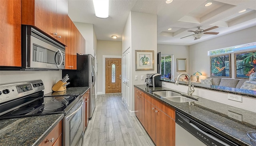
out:
{"label": "stainless steel front of the microwave above the stove", "polygon": [[29,68],[64,69],[65,52],[34,36],[30,36]]}

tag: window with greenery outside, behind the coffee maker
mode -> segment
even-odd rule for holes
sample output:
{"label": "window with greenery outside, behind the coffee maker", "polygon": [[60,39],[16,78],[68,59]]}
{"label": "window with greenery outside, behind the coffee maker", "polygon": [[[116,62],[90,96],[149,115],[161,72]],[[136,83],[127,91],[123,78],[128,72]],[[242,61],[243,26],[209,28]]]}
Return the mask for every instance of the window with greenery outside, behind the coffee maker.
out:
{"label": "window with greenery outside, behind the coffee maker", "polygon": [[173,55],[161,54],[161,78],[172,79]]}

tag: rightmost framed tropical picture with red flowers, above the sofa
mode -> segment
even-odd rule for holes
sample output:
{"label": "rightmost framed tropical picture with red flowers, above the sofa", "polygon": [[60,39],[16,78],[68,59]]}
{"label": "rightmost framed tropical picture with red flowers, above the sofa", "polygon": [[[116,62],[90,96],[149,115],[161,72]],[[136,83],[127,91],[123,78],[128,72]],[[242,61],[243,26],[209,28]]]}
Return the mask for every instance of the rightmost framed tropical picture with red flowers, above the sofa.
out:
{"label": "rightmost framed tropical picture with red flowers, above the sofa", "polygon": [[256,72],[256,51],[234,54],[235,78],[249,79],[250,74]]}

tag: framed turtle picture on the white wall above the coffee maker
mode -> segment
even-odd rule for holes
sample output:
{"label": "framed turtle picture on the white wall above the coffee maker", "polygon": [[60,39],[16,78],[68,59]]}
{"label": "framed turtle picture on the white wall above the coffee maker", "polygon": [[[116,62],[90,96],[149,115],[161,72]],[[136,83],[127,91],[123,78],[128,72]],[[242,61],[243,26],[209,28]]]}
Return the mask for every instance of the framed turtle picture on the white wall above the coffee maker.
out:
{"label": "framed turtle picture on the white wall above the coffee maker", "polygon": [[135,50],[135,70],[154,70],[154,50]]}

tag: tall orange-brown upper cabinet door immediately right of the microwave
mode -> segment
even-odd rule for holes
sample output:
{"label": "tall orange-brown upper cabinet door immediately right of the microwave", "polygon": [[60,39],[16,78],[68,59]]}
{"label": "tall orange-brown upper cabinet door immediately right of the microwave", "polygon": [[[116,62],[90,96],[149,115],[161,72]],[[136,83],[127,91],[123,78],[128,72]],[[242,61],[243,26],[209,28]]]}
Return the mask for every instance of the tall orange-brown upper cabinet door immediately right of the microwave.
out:
{"label": "tall orange-brown upper cabinet door immediately right of the microwave", "polygon": [[65,49],[65,69],[76,70],[76,26],[69,17],[67,19],[70,24],[70,34]]}

